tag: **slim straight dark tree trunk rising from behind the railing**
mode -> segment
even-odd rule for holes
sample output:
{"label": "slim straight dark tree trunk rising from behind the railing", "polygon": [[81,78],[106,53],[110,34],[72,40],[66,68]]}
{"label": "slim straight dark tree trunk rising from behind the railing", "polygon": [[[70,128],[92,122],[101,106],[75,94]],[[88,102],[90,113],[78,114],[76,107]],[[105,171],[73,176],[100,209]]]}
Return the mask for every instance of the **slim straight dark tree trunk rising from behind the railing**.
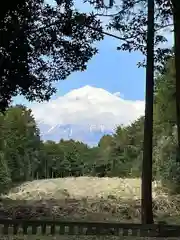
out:
{"label": "slim straight dark tree trunk rising from behind the railing", "polygon": [[154,94],[154,0],[148,0],[146,102],[142,162],[141,221],[153,223],[152,212],[152,138]]}

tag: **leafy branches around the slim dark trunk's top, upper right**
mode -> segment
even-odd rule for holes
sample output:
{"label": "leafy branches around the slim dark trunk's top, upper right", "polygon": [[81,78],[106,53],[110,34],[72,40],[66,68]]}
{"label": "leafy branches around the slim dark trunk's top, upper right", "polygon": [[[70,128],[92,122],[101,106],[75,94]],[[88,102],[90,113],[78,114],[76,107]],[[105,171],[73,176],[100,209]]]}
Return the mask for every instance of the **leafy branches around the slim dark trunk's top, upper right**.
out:
{"label": "leafy branches around the slim dark trunk's top, upper right", "polygon": [[[88,0],[92,5],[96,5],[96,1]],[[173,26],[172,4],[176,0],[155,0],[154,15],[154,62],[157,70],[162,70],[164,64],[169,59],[171,49],[163,43],[167,42],[167,38],[163,30],[170,32]],[[146,56],[147,51],[147,0],[118,0],[114,2],[113,11],[106,9],[102,14],[100,12],[102,6],[98,7],[98,13],[101,17],[108,19],[107,29],[116,32],[120,36],[118,50],[121,51],[140,51]],[[106,19],[105,19],[106,20]],[[138,62],[138,66],[146,66],[146,59]]]}

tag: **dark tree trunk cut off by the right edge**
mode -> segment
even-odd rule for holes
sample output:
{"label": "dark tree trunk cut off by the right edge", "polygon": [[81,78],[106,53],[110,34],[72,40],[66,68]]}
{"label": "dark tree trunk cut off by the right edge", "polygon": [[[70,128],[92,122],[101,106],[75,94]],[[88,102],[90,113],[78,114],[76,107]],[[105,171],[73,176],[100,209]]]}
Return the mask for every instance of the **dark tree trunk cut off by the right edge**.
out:
{"label": "dark tree trunk cut off by the right edge", "polygon": [[180,161],[180,1],[172,0],[174,18],[174,53],[176,69],[177,160]]}

